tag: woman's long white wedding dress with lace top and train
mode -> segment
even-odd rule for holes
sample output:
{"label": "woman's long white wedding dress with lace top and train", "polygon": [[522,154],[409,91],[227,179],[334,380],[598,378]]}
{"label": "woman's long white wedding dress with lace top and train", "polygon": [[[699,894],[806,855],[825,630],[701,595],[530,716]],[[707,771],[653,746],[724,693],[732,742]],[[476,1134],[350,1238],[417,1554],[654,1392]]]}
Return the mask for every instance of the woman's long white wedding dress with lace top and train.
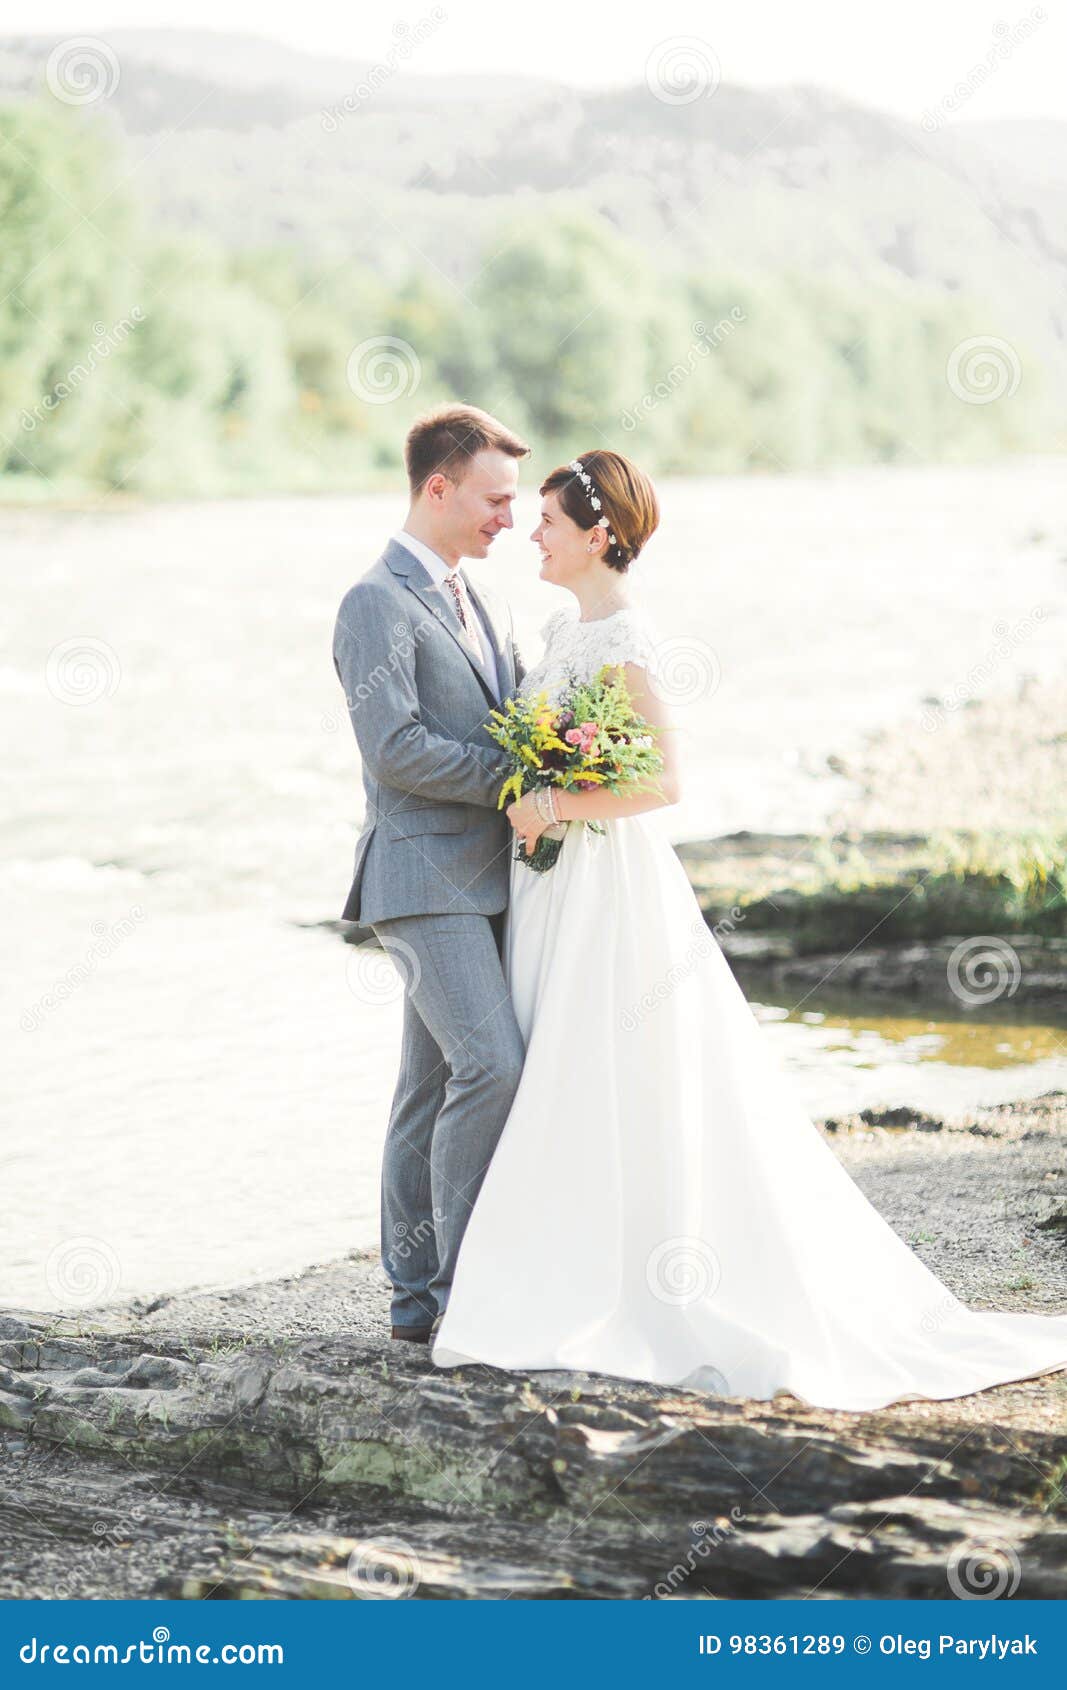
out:
{"label": "woman's long white wedding dress with lace top and train", "polygon": [[[654,644],[556,612],[553,701]],[[506,972],[526,1066],[475,1200],[440,1367],[587,1369],[873,1409],[1067,1367],[1067,1315],[971,1311],[802,1110],[648,816],[512,862]]]}

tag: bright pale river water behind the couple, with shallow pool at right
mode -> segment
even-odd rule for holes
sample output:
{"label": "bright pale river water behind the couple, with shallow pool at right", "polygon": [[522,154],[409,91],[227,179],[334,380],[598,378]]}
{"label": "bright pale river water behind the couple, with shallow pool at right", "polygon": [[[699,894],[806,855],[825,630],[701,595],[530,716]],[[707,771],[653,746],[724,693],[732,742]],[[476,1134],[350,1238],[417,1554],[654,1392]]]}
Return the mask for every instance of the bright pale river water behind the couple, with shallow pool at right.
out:
{"label": "bright pale river water behind the couple, with shallow pool at right", "polygon": [[[815,777],[827,752],[976,669],[1062,668],[1062,483],[1050,460],[665,483],[632,588],[683,730],[670,837],[818,826],[842,794]],[[316,923],[340,916],[362,810],[333,617],[401,519],[384,495],[0,507],[0,1306],[375,1242],[396,982]],[[534,521],[524,495],[472,566],[528,661],[565,602]],[[1042,1029],[998,1065],[927,1024],[830,1036],[805,1011],[759,1006],[813,1112],[1067,1083]]]}

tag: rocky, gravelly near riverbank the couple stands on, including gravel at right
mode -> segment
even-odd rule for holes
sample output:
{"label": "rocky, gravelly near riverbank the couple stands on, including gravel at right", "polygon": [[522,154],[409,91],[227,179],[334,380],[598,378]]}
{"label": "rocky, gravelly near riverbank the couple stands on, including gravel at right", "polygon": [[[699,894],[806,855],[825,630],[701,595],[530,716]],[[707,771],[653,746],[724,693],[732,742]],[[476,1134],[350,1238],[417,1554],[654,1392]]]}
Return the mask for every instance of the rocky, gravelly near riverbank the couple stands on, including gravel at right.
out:
{"label": "rocky, gravelly near riverbank the couple stands on, including gravel at right", "polygon": [[[972,1306],[1067,1308],[1067,1095],[822,1124]],[[435,1369],[374,1252],[0,1317],[0,1595],[1062,1595],[1067,1374],[869,1415]]]}

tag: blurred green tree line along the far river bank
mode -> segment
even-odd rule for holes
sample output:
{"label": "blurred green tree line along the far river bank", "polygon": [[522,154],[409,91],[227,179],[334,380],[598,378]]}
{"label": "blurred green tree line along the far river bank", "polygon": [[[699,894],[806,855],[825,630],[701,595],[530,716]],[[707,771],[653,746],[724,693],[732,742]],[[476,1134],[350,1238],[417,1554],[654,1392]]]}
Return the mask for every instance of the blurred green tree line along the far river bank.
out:
{"label": "blurred green tree line along the far river bank", "polygon": [[971,345],[981,301],[891,272],[675,270],[573,198],[516,210],[462,287],[418,255],[384,274],[232,250],[152,218],[113,134],[17,101],[0,223],[7,497],[391,485],[440,399],[497,412],[538,461],[610,444],[659,475],[1053,444],[1026,348]]}

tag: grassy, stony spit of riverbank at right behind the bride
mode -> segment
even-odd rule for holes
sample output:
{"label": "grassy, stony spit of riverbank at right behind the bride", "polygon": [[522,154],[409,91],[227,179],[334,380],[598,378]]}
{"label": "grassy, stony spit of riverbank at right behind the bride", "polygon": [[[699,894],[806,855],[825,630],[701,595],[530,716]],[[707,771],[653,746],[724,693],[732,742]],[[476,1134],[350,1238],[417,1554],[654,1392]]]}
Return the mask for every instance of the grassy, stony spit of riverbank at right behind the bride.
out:
{"label": "grassy, stony spit of riverbank at right behind the bride", "polygon": [[812,774],[851,782],[824,833],[678,847],[739,973],[1067,1011],[1067,684],[923,700]]}

